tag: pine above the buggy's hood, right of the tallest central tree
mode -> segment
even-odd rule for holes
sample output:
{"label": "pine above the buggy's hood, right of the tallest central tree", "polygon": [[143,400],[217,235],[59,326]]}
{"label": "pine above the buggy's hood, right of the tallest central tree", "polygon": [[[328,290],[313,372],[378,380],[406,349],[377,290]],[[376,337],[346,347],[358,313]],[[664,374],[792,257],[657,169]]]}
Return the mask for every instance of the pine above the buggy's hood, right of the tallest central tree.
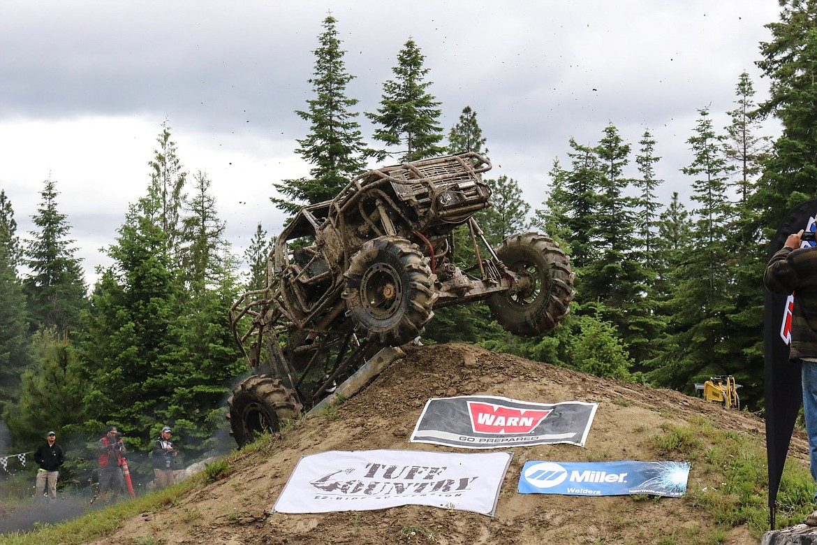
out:
{"label": "pine above the buggy's hood, right of the tallest central tree", "polygon": [[429,69],[423,67],[425,56],[413,39],[405,42],[392,71],[395,79],[383,84],[383,95],[377,114],[366,116],[380,125],[374,139],[387,146],[402,146],[400,161],[416,161],[443,154],[442,127],[437,119],[441,110],[427,89],[431,82],[423,81]]}

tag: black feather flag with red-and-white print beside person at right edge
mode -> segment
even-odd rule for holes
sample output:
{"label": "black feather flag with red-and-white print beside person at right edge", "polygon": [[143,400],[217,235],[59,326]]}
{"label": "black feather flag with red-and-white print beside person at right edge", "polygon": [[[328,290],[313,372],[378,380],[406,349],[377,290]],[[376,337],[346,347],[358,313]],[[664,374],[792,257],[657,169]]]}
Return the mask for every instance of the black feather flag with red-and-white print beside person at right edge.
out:
{"label": "black feather flag with red-and-white print beside person at right edge", "polygon": [[[780,221],[769,243],[766,261],[783,248],[788,235],[799,230],[815,230],[817,200],[808,200],[792,208]],[[814,243],[811,243],[813,245]],[[800,365],[788,360],[794,298],[766,290],[763,307],[764,377],[766,382],[766,461],[769,467],[769,522],[775,529],[777,491],[792,439],[794,422],[802,404]]]}

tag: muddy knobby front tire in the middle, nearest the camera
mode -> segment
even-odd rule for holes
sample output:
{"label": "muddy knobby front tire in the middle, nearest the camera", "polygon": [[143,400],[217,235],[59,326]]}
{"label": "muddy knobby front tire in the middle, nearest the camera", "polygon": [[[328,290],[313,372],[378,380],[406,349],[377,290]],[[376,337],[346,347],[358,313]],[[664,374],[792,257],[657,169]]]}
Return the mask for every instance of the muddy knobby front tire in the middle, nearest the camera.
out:
{"label": "muddy knobby front tire in the middle, nearest the camera", "polygon": [[436,293],[428,258],[399,237],[368,240],[346,270],[346,315],[355,333],[400,346],[422,333],[434,316]]}

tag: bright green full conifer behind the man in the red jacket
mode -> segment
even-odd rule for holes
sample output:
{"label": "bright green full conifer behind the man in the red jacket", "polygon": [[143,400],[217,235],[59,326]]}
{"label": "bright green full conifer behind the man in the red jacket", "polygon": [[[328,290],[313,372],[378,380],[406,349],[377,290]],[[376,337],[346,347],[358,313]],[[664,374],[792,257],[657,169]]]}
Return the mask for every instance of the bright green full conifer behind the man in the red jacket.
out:
{"label": "bright green full conifer behind the man in the red jacket", "polygon": [[[179,345],[172,326],[180,290],[156,204],[143,198],[128,210],[106,251],[112,265],[93,293],[82,347],[85,425],[94,433],[115,422],[127,435],[144,434],[172,395],[174,369],[166,356]],[[143,440],[146,447],[149,437]]]}

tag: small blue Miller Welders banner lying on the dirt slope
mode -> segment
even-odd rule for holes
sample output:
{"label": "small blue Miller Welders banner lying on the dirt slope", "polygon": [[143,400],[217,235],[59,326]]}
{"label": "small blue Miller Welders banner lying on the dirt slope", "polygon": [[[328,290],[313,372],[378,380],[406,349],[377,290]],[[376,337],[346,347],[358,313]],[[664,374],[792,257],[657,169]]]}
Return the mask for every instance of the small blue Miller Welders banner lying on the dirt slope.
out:
{"label": "small blue Miller Welders banner lying on the dirt slope", "polygon": [[686,493],[689,462],[525,462],[521,494],[618,496],[651,494],[676,498]]}

